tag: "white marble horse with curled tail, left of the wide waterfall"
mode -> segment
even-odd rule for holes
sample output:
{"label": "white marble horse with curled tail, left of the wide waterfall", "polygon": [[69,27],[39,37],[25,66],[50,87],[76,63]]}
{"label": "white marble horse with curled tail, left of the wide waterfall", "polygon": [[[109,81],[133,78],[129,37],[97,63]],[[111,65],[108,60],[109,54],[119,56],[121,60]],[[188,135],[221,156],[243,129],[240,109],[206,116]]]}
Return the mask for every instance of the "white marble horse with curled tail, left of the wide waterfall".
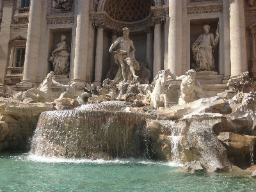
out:
{"label": "white marble horse with curled tail, left of the wide waterfall", "polygon": [[27,90],[22,95],[22,100],[25,99],[25,97],[30,97],[35,102],[52,102],[56,99],[54,93],[51,90],[52,84],[56,86],[63,87],[63,84],[58,83],[57,81],[54,81],[52,79],[54,72],[49,72],[47,76],[45,77],[44,81],[40,84],[38,88],[31,88],[30,90]]}

